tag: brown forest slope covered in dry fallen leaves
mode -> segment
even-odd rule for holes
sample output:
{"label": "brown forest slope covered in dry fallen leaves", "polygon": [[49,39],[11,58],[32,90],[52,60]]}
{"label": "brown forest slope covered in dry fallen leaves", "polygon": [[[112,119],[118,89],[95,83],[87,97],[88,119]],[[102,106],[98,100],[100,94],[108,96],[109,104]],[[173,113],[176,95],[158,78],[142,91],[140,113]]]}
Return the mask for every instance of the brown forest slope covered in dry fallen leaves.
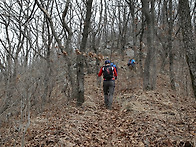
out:
{"label": "brown forest slope covered in dry fallen leaves", "polygon": [[[142,90],[136,75],[119,69],[112,110],[106,110],[96,75],[85,79],[85,103],[67,104],[63,95],[39,116],[31,117],[24,145],[31,147],[149,147],[196,146],[196,103],[171,91],[167,77],[158,78],[155,91]],[[24,124],[25,125],[25,124]],[[22,131],[1,128],[0,146],[21,146]]]}

